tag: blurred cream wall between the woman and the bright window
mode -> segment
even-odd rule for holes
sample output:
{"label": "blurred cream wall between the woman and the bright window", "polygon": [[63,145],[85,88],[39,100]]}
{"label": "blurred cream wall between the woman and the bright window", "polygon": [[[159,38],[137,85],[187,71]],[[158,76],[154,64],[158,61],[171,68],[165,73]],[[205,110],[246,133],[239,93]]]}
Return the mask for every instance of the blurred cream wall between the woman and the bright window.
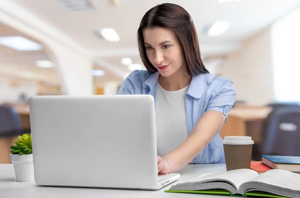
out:
{"label": "blurred cream wall between the woman and the bright window", "polygon": [[229,55],[217,73],[233,81],[236,100],[251,104],[273,101],[270,27],[247,40],[242,50]]}

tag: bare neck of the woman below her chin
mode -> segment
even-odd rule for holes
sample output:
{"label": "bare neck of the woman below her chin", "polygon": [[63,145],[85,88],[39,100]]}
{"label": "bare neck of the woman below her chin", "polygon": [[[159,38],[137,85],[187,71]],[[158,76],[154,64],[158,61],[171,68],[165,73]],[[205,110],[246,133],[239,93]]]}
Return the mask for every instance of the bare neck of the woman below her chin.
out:
{"label": "bare neck of the woman below her chin", "polygon": [[163,77],[159,75],[158,83],[167,91],[177,91],[186,87],[191,81],[191,76],[185,73],[177,71],[171,76]]}

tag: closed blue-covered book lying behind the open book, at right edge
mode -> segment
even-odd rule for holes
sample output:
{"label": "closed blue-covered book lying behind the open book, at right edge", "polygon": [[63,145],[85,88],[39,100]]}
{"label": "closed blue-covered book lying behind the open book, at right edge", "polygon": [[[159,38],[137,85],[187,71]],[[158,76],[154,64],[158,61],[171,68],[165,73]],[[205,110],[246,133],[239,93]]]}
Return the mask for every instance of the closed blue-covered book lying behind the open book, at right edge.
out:
{"label": "closed blue-covered book lying behind the open book, at right edge", "polygon": [[300,172],[300,157],[298,156],[261,155],[261,161],[273,169]]}

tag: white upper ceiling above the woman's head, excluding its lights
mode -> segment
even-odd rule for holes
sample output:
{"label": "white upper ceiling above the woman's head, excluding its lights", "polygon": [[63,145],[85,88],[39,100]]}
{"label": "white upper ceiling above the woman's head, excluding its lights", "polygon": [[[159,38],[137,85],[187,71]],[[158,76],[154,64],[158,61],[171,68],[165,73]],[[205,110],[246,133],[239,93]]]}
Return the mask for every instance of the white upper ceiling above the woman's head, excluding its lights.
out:
{"label": "white upper ceiling above the woman's head, excluding its lights", "polygon": [[[55,0],[12,1],[44,22],[45,26],[76,43],[92,55],[98,65],[121,73],[129,72],[120,63],[122,57],[141,63],[136,31],[142,16],[153,6],[165,3],[159,0],[120,0],[121,5],[114,6],[109,0],[90,0],[94,10],[70,12]],[[217,0],[173,0],[168,3],[182,6],[191,15],[202,57],[223,56],[239,50],[249,36],[300,6],[300,0],[247,0],[224,4],[217,3]],[[224,35],[208,37],[201,33],[203,27],[217,20],[228,20],[231,24]],[[119,42],[106,42],[94,35],[94,31],[109,27],[120,36]]]}

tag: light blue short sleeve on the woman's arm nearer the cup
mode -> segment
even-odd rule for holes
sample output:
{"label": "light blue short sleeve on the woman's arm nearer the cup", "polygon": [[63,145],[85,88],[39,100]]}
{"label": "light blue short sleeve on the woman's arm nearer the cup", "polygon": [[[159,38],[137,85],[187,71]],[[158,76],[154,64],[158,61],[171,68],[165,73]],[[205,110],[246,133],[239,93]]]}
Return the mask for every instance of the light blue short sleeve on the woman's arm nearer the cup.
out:
{"label": "light blue short sleeve on the woman's arm nearer the cup", "polygon": [[210,97],[206,111],[219,111],[227,118],[228,112],[235,101],[235,95],[235,86],[233,82],[224,80]]}

